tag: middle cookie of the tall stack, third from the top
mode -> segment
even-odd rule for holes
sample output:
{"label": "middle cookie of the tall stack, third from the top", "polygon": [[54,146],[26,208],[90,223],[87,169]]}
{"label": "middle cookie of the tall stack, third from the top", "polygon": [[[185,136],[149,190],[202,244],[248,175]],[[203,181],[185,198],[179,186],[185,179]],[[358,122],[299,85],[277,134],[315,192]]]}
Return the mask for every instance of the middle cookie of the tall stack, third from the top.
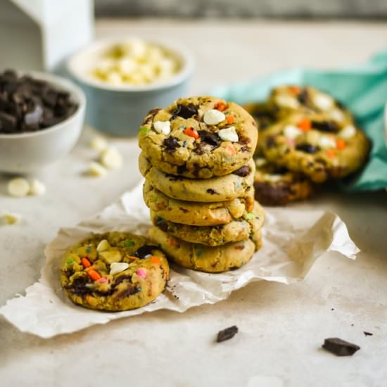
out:
{"label": "middle cookie of the tall stack, third from the top", "polygon": [[233,201],[200,203],[169,198],[149,182],[145,182],[143,194],[146,205],[156,215],[170,222],[189,226],[227,224],[243,216],[245,212],[251,212],[254,208],[253,190],[250,190],[248,196],[236,198]]}

